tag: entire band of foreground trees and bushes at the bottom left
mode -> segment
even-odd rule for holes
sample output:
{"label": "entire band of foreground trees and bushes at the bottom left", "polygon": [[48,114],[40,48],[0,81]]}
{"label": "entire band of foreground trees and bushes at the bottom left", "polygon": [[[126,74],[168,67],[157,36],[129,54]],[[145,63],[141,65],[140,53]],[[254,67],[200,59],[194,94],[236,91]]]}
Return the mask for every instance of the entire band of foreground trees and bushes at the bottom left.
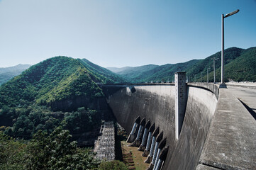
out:
{"label": "entire band of foreground trees and bushes at the bottom left", "polygon": [[99,161],[70,137],[62,128],[50,134],[38,131],[29,142],[0,132],[0,169],[96,169]]}

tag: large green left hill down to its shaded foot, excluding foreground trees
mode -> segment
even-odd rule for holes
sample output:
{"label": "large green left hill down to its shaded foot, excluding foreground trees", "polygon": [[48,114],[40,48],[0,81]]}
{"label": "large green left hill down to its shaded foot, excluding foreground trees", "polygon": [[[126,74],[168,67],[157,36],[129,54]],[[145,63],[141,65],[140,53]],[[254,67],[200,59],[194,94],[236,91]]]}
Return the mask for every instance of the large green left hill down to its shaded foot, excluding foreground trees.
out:
{"label": "large green left hill down to its shaded foot, excluding foreground trees", "polygon": [[[98,84],[125,82],[88,60],[53,57],[31,66],[0,86],[0,127],[13,137],[62,126],[72,134],[101,124]],[[96,110],[95,110],[96,109]]]}

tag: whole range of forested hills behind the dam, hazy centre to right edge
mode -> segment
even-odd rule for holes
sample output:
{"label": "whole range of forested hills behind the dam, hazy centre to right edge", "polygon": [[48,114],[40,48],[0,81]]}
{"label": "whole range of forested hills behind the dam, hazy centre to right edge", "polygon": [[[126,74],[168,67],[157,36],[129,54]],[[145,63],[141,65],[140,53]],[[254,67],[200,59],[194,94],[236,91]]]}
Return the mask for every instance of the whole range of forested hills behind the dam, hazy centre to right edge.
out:
{"label": "whole range of forested hills behind the dam, hazy centre to right edge", "polygon": [[[207,69],[209,81],[213,82],[213,57],[216,65],[216,81],[221,81],[221,52],[216,52],[204,60],[190,60],[188,62],[165,65],[145,65],[141,67],[111,67],[113,72],[130,79],[134,83],[150,81],[172,81],[174,73],[187,72],[189,81],[206,81]],[[241,49],[230,47],[225,50],[226,81],[256,81],[256,47]]]}

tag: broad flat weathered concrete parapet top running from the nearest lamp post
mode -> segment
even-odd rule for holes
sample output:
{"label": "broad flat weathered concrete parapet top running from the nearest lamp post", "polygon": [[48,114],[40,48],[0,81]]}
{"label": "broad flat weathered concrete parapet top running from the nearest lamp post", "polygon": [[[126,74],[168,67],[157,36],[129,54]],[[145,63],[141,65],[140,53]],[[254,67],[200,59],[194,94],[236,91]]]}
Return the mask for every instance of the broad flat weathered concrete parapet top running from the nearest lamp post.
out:
{"label": "broad flat weathered concrete parapet top running from the nearest lamp post", "polygon": [[255,128],[256,121],[243,104],[228,89],[220,89],[200,164],[217,169],[256,169]]}

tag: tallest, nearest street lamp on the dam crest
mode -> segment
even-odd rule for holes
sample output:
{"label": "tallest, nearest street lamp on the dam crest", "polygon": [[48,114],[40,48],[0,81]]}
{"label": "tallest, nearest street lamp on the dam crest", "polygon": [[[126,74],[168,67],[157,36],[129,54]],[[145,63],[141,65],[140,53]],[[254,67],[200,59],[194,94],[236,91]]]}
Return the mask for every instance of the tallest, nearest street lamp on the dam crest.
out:
{"label": "tallest, nearest street lamp on the dam crest", "polygon": [[231,13],[221,15],[221,85],[220,88],[226,88],[226,84],[224,82],[224,18],[227,18],[228,16],[232,16],[235,13],[238,13],[239,9],[236,11],[233,11]]}

